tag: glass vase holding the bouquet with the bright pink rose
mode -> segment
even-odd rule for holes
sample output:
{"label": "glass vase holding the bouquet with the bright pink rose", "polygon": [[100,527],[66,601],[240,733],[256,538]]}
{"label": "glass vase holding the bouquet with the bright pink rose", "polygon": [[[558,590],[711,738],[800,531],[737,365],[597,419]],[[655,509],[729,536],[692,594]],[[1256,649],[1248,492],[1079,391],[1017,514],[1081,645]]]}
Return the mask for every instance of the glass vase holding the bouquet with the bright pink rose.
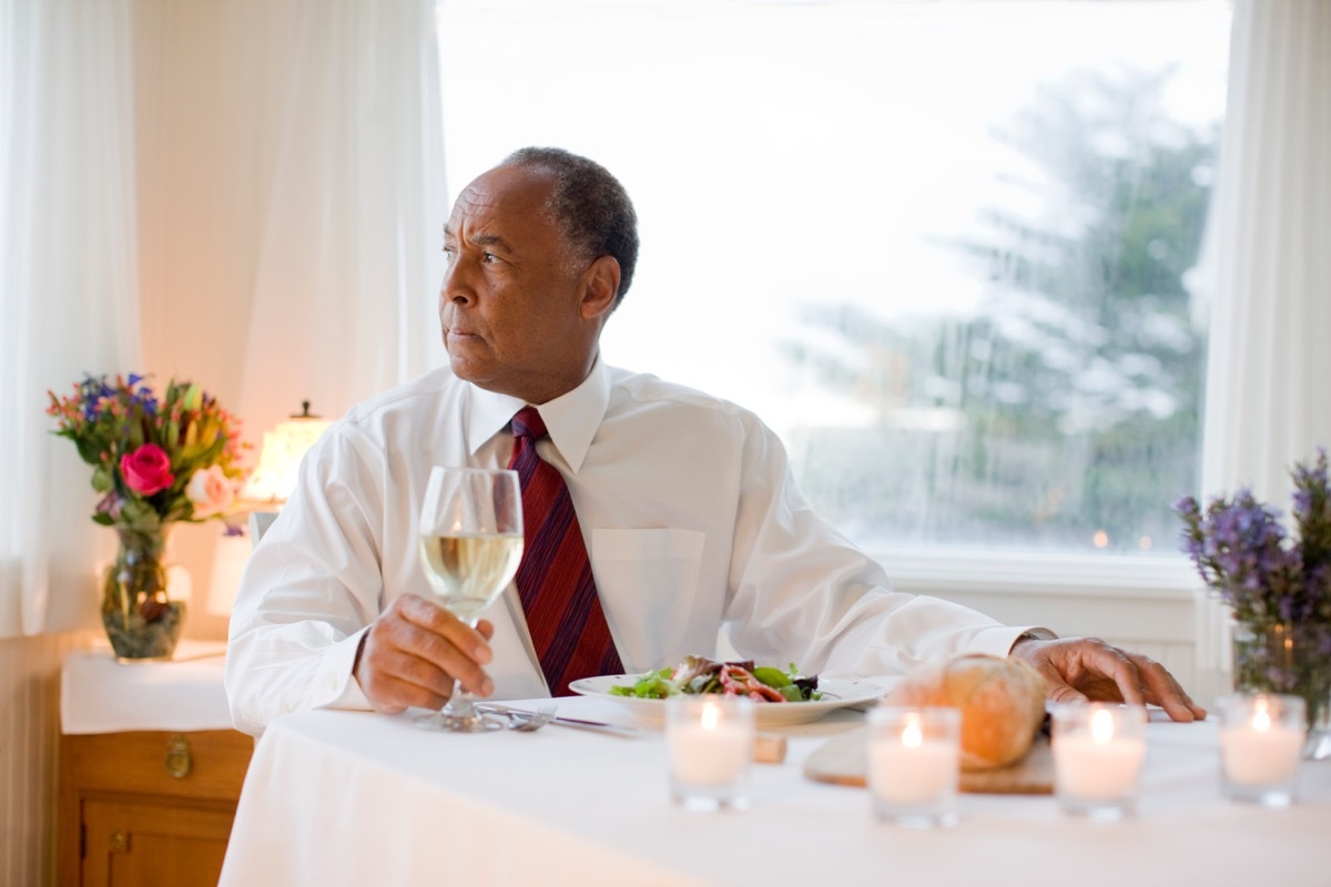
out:
{"label": "glass vase holding the bouquet with the bright pink rose", "polygon": [[101,622],[121,662],[169,660],[180,641],[185,604],[166,596],[168,531],[116,527],[120,551],[102,582]]}

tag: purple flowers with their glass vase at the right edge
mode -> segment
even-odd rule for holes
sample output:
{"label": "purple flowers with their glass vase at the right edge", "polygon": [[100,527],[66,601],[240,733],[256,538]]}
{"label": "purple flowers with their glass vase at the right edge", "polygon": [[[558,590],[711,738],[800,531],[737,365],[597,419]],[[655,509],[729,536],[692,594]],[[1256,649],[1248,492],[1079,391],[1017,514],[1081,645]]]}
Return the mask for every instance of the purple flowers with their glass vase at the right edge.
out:
{"label": "purple flowers with their glass vase at the right edge", "polygon": [[1308,755],[1331,757],[1331,484],[1327,452],[1298,464],[1294,529],[1250,489],[1214,499],[1203,513],[1193,497],[1182,548],[1202,581],[1234,613],[1234,682],[1238,690],[1292,693],[1308,715]]}

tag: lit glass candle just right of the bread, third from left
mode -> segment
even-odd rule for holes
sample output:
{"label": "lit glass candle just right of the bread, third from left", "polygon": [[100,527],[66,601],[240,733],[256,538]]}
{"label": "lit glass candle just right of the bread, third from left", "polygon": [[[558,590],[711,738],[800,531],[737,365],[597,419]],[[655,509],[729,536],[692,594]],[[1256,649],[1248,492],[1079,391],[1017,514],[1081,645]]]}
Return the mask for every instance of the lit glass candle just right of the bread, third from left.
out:
{"label": "lit glass candle just right of the bread, third from left", "polygon": [[1055,706],[1051,745],[1054,789],[1066,813],[1103,821],[1135,813],[1146,761],[1145,706]]}

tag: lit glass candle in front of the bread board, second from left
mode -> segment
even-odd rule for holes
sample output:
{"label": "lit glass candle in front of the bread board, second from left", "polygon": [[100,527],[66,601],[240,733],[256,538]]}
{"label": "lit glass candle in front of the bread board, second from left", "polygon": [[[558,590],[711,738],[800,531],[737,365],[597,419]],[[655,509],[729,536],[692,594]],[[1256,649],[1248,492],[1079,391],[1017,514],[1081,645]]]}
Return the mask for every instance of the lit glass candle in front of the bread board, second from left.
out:
{"label": "lit glass candle in front of the bread board, second from left", "polygon": [[878,705],[868,722],[874,817],[917,828],[956,824],[961,711]]}

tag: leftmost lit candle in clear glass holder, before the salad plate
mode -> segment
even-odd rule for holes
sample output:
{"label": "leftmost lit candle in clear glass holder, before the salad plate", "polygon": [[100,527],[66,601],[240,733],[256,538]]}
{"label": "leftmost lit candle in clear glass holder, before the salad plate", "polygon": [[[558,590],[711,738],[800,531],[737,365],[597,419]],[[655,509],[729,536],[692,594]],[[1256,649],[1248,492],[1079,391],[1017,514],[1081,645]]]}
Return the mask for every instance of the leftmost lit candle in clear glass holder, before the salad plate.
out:
{"label": "leftmost lit candle in clear glass holder, before the salad plate", "polygon": [[666,701],[671,797],[689,810],[743,810],[753,761],[752,699],[675,696]]}

